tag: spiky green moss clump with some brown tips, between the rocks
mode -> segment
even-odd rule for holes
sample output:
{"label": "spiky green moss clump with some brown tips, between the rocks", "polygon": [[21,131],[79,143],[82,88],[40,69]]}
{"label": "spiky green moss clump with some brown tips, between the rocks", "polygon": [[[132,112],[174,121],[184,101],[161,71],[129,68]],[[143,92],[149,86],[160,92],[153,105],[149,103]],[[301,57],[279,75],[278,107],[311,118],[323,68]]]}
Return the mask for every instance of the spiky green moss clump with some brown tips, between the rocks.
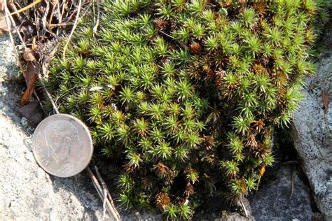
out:
{"label": "spiky green moss clump with some brown tips, between the rocks", "polygon": [[188,219],[206,196],[256,189],[314,71],[324,2],[102,4],[97,34],[86,15],[48,87],[90,126],[96,160],[121,166],[120,203]]}

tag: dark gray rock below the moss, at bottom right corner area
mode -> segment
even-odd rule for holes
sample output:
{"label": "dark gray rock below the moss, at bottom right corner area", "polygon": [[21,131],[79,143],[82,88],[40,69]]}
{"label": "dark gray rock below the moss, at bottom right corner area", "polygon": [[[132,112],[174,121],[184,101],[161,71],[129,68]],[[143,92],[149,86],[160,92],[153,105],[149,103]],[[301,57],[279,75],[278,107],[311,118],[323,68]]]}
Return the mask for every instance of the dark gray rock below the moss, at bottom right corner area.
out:
{"label": "dark gray rock below the moss, at bottom right corner area", "polygon": [[291,166],[281,166],[275,173],[275,178],[266,180],[265,177],[265,183],[251,196],[251,213],[255,220],[312,220],[310,188],[300,180],[296,169],[292,172]]}

